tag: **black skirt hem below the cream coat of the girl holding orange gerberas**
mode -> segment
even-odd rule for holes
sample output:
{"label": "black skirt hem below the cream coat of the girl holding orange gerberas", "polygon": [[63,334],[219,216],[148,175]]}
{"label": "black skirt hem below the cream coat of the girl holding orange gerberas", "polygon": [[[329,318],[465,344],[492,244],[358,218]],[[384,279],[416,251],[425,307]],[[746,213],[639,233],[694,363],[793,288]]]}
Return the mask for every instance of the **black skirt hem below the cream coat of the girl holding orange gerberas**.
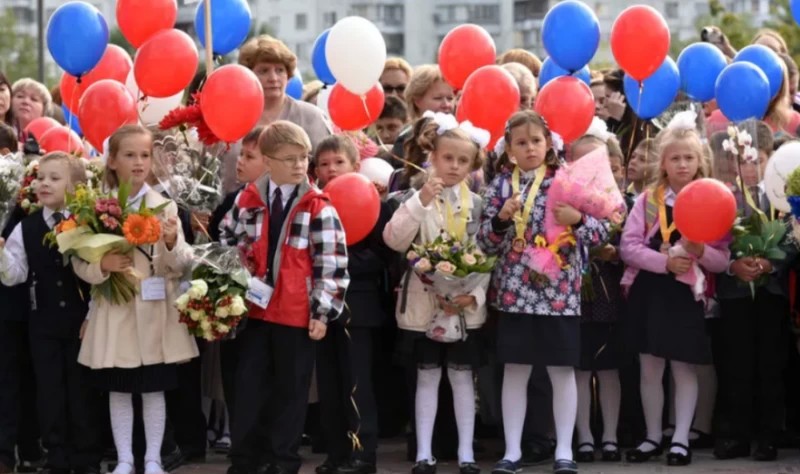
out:
{"label": "black skirt hem below the cream coat of the girl holding orange gerberas", "polygon": [[178,388],[176,364],[143,365],[133,369],[92,370],[92,385],[103,392],[151,393]]}

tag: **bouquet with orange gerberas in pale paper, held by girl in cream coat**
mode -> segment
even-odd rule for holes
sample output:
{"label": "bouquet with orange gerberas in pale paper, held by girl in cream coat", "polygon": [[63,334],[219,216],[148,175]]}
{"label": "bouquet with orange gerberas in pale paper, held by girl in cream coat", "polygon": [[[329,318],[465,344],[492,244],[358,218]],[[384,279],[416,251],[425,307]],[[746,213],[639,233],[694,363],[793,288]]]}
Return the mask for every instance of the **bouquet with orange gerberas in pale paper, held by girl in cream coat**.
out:
{"label": "bouquet with orange gerberas in pale paper, held by girl in cream coat", "polygon": [[[123,183],[116,196],[78,185],[67,195],[68,219],[61,221],[47,236],[51,245],[67,260],[76,256],[97,263],[112,251],[126,253],[139,245],[154,244],[161,238],[161,222],[156,217],[168,203],[148,208],[142,200],[139,209],[128,206],[131,186]],[[135,270],[111,273],[105,282],[92,286],[92,297],[113,304],[131,301],[137,292],[128,278],[140,278]]]}

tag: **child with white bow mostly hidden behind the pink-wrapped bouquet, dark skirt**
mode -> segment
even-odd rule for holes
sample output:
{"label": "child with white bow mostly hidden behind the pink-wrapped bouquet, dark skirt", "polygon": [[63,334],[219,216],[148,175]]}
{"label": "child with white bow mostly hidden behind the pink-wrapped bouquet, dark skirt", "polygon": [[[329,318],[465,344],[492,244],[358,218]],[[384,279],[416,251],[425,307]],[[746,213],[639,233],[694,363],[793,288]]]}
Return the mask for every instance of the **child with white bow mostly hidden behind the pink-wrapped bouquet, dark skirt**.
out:
{"label": "child with white bow mostly hidden behind the pink-wrapped bouquet, dark skirt", "polygon": [[[573,144],[573,157],[606,147],[609,164],[621,162],[621,151],[612,134],[585,135]],[[613,151],[612,151],[613,150]],[[621,169],[621,166],[619,166]],[[591,429],[592,376],[596,374],[598,402],[603,416],[602,459],[621,459],[617,444],[617,426],[621,400],[619,368],[620,336],[617,323],[622,309],[619,281],[623,266],[619,261],[619,238],[585,249],[589,255],[588,281],[584,281],[581,301],[581,361],[576,373],[578,384],[578,462],[593,462],[595,440]],[[586,278],[584,276],[584,278]]]}

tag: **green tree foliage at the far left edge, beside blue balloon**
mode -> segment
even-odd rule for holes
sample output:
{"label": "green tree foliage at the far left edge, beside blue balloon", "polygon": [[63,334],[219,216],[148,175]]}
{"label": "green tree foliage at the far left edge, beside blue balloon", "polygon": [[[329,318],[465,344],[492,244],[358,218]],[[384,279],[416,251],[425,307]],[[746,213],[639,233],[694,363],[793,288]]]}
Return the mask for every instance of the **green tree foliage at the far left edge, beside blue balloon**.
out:
{"label": "green tree foliage at the far left edge, beside blue balloon", "polygon": [[17,31],[17,18],[11,8],[0,12],[0,71],[10,81],[38,77],[36,38]]}

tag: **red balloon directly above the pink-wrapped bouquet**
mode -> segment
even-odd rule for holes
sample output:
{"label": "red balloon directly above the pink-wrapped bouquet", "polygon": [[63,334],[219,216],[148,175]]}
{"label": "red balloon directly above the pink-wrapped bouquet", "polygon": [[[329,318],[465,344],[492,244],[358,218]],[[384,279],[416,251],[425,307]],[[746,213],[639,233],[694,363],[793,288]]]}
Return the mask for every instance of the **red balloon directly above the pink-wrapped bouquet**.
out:
{"label": "red balloon directly above the pink-wrapped bouquet", "polygon": [[561,136],[564,143],[581,137],[594,117],[594,96],[577,77],[561,76],[545,84],[533,106],[547,121],[551,132]]}

